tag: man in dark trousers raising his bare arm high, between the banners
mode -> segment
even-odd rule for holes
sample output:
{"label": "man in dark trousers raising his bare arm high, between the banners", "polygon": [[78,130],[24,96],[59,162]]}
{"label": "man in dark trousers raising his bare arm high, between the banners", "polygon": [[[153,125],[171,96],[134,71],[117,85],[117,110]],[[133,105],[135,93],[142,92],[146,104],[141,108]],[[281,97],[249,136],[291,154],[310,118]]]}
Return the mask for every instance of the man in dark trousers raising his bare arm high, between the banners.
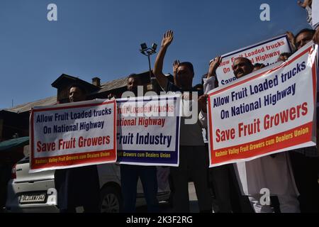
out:
{"label": "man in dark trousers raising his bare arm high, between the banners", "polygon": [[[192,95],[184,92],[196,92],[193,89],[194,67],[191,62],[174,62],[176,68],[175,84],[168,81],[162,72],[164,56],[167,48],[172,43],[173,32],[164,33],[162,45],[156,58],[153,73],[159,86],[166,92],[181,92],[185,99],[190,99],[190,107],[197,104]],[[193,93],[194,94],[194,93]],[[187,110],[189,111],[189,109]],[[196,118],[198,112],[196,111]],[[181,118],[180,128],[180,148],[179,148],[179,167],[171,167],[172,183],[174,187],[173,206],[174,212],[189,212],[189,179],[194,182],[196,196],[198,198],[199,211],[212,211],[212,196],[208,188],[208,153],[204,146],[201,126],[198,122],[186,124],[185,118]]]}

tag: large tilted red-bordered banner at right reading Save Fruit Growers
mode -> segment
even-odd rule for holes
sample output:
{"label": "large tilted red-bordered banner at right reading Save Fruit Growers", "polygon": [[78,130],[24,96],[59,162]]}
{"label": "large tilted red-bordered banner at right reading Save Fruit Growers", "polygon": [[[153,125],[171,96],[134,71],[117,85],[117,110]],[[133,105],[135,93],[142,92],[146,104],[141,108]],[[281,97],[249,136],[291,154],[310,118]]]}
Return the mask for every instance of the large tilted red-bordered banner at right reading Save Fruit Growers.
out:
{"label": "large tilted red-bordered banner at right reading Save Fruit Growers", "polygon": [[208,94],[210,167],[315,145],[312,48]]}

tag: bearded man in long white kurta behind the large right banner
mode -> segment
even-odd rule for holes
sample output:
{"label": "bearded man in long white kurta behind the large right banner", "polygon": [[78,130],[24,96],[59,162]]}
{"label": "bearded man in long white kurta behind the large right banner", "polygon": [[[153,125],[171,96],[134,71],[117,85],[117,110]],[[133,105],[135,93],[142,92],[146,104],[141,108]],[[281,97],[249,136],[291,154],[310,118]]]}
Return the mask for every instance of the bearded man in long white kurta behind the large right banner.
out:
{"label": "bearded man in long white kurta behind the large right banner", "polygon": [[[208,79],[204,83],[206,94],[216,86],[214,75],[216,75],[216,65],[219,65],[220,61],[220,57],[216,57],[211,62]],[[250,74],[252,69],[253,65],[247,58],[238,58],[233,65],[237,78]],[[203,124],[206,123],[206,114],[203,111],[199,114],[199,119]],[[237,162],[234,167],[242,195],[249,196],[250,203],[256,213],[274,212],[270,202],[263,203],[262,189],[267,189],[271,195],[278,196],[282,213],[300,212],[297,199],[298,190],[287,153],[259,157],[248,162]]]}

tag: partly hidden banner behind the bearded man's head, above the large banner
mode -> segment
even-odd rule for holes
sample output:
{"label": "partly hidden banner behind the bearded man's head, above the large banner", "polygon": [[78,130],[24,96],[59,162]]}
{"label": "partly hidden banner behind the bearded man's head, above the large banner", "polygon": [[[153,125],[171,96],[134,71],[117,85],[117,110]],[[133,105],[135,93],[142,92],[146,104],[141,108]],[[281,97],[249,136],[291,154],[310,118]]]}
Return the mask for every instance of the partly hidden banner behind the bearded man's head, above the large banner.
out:
{"label": "partly hidden banner behind the bearded man's head, above the large banner", "polygon": [[291,47],[287,35],[280,35],[261,43],[250,45],[247,48],[235,50],[222,55],[222,62],[216,70],[217,79],[220,85],[226,85],[235,81],[233,74],[233,62],[238,57],[248,58],[252,64],[262,63],[266,66],[277,62],[278,57],[283,52],[291,52]]}

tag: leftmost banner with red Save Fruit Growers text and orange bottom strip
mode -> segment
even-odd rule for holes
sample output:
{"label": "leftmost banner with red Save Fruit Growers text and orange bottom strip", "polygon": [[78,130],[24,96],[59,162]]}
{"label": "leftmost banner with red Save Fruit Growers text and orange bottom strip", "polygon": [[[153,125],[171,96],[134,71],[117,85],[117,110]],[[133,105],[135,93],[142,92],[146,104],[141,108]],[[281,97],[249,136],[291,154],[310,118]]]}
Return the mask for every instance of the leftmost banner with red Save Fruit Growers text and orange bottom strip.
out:
{"label": "leftmost banner with red Save Fruit Growers text and orange bottom strip", "polygon": [[116,162],[116,101],[34,107],[30,172]]}

